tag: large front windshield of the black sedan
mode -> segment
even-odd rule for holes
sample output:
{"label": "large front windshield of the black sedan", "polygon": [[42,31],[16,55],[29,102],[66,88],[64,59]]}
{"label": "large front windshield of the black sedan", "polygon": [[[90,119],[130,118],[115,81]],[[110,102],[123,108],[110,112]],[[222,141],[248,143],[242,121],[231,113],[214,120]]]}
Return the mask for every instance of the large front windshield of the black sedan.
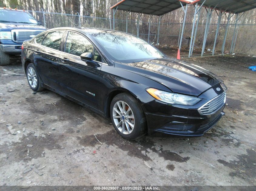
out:
{"label": "large front windshield of the black sedan", "polygon": [[119,62],[140,62],[166,57],[154,46],[131,34],[103,31],[91,34],[111,59]]}

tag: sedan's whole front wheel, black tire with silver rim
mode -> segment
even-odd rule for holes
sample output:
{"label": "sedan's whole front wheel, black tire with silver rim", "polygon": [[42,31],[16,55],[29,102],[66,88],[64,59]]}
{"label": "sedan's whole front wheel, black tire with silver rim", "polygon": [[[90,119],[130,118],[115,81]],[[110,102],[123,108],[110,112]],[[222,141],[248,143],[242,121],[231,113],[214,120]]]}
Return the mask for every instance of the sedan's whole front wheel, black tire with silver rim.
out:
{"label": "sedan's whole front wheel, black tire with silver rim", "polygon": [[115,130],[127,140],[140,138],[146,132],[145,114],[138,101],[130,94],[121,93],[113,98],[110,104],[110,117]]}

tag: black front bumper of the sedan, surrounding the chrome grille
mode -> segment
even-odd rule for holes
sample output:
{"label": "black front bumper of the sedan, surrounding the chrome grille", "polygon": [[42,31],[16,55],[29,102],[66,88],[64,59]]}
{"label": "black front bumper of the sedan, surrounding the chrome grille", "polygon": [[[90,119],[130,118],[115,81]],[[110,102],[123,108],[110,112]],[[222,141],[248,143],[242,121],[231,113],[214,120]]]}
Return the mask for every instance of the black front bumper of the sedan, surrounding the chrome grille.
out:
{"label": "black front bumper of the sedan, surrounding the chrome grille", "polygon": [[210,115],[201,115],[198,112],[199,107],[216,96],[218,94],[210,89],[201,94],[200,98],[202,100],[194,106],[171,105],[158,100],[144,104],[143,109],[148,123],[148,134],[162,132],[182,136],[204,135],[225,114],[223,112],[225,103]]}

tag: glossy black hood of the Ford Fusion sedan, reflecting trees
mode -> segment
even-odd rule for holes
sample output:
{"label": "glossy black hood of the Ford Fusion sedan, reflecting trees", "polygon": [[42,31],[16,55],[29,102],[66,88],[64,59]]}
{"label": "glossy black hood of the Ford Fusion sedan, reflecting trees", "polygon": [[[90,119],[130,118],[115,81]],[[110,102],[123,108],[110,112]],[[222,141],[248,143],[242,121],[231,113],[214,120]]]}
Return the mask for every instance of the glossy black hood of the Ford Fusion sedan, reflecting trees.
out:
{"label": "glossy black hood of the Ford Fusion sedan, reflecting trees", "polygon": [[210,71],[174,58],[152,59],[128,64],[115,63],[116,66],[157,81],[171,91],[180,94],[199,96],[222,82]]}

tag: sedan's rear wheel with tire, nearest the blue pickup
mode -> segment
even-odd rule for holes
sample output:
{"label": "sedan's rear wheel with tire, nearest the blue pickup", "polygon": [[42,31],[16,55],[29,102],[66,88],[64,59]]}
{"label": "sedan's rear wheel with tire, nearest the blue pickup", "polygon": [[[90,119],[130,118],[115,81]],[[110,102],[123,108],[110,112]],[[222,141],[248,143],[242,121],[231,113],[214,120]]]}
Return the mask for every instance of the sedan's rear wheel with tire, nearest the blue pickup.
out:
{"label": "sedan's rear wheel with tire, nearest the blue pickup", "polygon": [[26,69],[26,75],[27,75],[28,85],[33,91],[42,91],[45,89],[42,87],[41,78],[39,77],[39,74],[34,64],[32,63],[28,64]]}

